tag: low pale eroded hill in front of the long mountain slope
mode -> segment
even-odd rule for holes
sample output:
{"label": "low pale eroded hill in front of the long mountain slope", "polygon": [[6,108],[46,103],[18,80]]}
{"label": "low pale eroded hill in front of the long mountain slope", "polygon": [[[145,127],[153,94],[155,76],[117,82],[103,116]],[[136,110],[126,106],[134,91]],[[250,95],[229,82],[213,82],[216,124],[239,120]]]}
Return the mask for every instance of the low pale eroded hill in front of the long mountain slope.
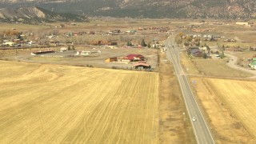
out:
{"label": "low pale eroded hill in front of the long mountain slope", "polygon": [[24,22],[24,23],[40,23],[40,22],[85,22],[85,16],[77,14],[58,14],[40,7],[22,7],[17,9],[2,8],[0,9],[1,22]]}

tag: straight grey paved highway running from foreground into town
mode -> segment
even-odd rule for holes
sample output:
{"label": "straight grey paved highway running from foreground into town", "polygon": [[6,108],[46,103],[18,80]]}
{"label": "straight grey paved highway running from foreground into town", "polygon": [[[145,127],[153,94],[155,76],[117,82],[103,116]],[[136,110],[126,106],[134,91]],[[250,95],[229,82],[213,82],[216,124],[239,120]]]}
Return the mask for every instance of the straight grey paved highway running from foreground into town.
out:
{"label": "straight grey paved highway running from foreground into town", "polygon": [[[178,77],[178,82],[182,90],[183,98],[186,103],[186,110],[189,114],[196,140],[198,144],[212,144],[214,143],[212,134],[210,134],[210,130],[202,116],[198,103],[194,98],[194,94],[190,89],[186,74],[184,74],[184,71],[182,70],[179,58],[180,52],[178,46],[174,43],[174,36],[167,38],[165,45],[166,56],[174,65],[175,74]],[[193,121],[192,118],[196,118],[196,121]]]}

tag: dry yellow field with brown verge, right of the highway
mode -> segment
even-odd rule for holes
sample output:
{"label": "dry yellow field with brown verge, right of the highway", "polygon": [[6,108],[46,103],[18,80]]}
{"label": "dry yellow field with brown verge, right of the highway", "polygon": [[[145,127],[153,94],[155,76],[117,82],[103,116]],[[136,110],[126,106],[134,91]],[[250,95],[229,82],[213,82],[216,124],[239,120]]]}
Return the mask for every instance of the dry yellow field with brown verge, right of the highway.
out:
{"label": "dry yellow field with brown verge, right of the highway", "polygon": [[190,78],[216,143],[255,143],[256,82]]}

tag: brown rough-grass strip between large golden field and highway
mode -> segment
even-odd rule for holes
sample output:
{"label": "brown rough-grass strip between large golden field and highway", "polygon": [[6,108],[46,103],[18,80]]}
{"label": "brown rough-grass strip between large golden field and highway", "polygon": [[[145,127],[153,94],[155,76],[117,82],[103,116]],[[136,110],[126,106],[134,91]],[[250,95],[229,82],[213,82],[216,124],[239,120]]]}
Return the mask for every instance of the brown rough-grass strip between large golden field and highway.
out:
{"label": "brown rough-grass strip between large golden field and highway", "polygon": [[159,70],[159,142],[196,143],[178,79],[172,74],[174,71],[171,63],[164,59],[162,55]]}

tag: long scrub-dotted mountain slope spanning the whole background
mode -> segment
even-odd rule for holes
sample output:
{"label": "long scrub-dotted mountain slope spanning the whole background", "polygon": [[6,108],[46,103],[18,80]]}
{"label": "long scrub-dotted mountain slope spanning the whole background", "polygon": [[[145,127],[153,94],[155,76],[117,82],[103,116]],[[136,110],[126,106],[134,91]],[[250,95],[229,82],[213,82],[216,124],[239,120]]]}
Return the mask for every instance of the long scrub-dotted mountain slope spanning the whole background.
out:
{"label": "long scrub-dotted mountain slope spanning the whole background", "polygon": [[255,0],[0,0],[2,7],[132,18],[256,18]]}

